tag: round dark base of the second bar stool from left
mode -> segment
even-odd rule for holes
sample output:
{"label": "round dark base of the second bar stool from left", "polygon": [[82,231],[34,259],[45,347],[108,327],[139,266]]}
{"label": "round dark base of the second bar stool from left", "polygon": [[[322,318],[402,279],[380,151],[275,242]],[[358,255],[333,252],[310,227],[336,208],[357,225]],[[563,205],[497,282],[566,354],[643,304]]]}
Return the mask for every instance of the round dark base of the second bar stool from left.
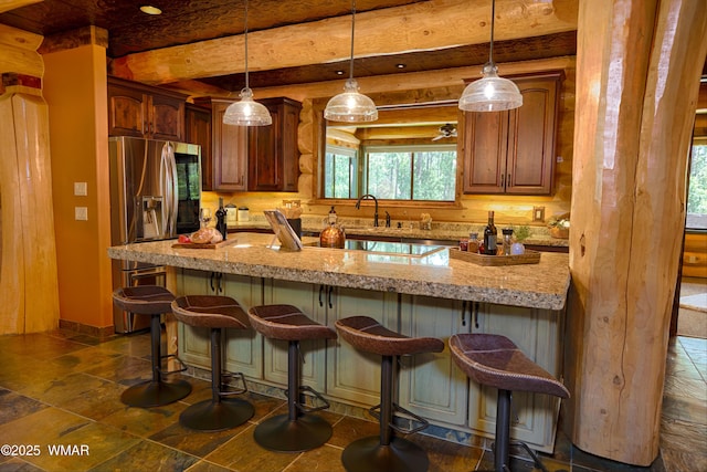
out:
{"label": "round dark base of the second bar stool from left", "polygon": [[253,418],[253,413],[255,409],[244,400],[204,400],[182,411],[179,423],[197,431],[223,431],[243,424]]}

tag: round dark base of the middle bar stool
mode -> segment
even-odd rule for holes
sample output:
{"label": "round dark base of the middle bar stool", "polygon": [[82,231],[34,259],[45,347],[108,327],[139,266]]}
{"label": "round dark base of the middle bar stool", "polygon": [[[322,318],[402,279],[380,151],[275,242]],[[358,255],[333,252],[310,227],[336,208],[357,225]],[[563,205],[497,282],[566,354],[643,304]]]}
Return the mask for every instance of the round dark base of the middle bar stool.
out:
{"label": "round dark base of the middle bar stool", "polygon": [[304,452],[327,442],[331,432],[331,424],[316,415],[303,415],[295,421],[287,415],[279,415],[260,423],[253,437],[270,451]]}

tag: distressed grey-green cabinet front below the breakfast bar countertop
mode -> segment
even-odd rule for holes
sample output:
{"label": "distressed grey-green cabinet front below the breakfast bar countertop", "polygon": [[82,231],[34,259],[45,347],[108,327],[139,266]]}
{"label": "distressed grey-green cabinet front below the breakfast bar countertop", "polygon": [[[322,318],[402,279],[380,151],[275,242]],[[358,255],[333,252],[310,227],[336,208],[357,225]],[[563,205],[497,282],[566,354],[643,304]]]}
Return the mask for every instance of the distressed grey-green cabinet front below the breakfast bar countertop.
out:
{"label": "distressed grey-green cabinet front below the breakfast bar countertop", "polygon": [[[370,316],[408,336],[442,339],[442,353],[402,356],[397,364],[395,397],[401,407],[452,430],[493,438],[496,390],[471,380],[456,366],[449,338],[457,333],[502,334],[534,361],[558,377],[561,373],[563,313],[361,289],[262,280],[242,275],[180,270],[179,294],[224,294],[244,310],[260,304],[288,304],[317,323]],[[189,365],[211,368],[209,331],[179,324],[179,355]],[[263,338],[253,329],[224,334],[226,369],[253,380],[286,388],[287,342]],[[300,343],[302,382],[327,398],[359,407],[380,401],[380,356],[355,349],[346,340]],[[559,401],[547,395],[513,394],[511,438],[550,452]]]}

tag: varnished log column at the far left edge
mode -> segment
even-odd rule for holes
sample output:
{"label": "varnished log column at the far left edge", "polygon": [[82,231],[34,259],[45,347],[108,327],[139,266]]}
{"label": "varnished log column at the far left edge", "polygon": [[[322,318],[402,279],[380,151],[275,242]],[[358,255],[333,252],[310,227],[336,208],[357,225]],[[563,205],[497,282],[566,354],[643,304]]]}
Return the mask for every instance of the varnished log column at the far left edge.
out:
{"label": "varnished log column at the far left edge", "polygon": [[39,77],[4,73],[0,96],[0,335],[59,326],[49,109]]}

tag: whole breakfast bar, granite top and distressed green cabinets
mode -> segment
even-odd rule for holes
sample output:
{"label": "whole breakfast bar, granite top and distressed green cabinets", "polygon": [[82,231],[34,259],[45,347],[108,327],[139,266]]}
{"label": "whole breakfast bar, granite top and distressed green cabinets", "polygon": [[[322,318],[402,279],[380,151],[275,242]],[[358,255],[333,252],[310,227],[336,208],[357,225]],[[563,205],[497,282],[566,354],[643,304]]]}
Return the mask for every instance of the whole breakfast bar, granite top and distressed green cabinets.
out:
{"label": "whole breakfast bar, granite top and distressed green cabinets", "polygon": [[[169,268],[168,287],[177,295],[229,295],[244,310],[291,304],[329,326],[366,315],[404,335],[445,344],[456,333],[503,334],[562,377],[568,254],[547,252],[535,264],[483,266],[450,258],[445,247],[409,245],[397,252],[383,242],[352,250],[307,245],[315,240],[304,238],[302,251],[291,252],[271,247],[272,234],[235,233],[215,249],[156,241],[113,247],[108,255]],[[196,371],[209,369],[208,329],[180,325],[178,333],[179,357]],[[287,344],[254,331],[224,336],[226,369],[243,373],[252,390],[282,398]],[[302,355],[303,384],[321,392],[331,409],[360,415],[379,402],[377,356],[323,339],[303,342]],[[496,391],[469,381],[449,347],[401,358],[395,401],[430,421],[426,433],[457,442],[469,441],[471,434],[494,436]],[[558,399],[519,392],[513,406],[511,436],[550,452]]]}

